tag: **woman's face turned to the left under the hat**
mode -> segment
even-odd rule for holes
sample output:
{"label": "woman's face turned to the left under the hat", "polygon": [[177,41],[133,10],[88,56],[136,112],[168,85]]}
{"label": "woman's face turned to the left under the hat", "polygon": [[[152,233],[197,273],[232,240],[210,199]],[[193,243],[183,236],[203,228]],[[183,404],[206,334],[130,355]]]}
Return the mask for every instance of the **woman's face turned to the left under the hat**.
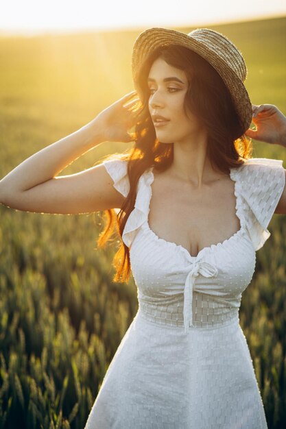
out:
{"label": "woman's face turned to the left under the hat", "polygon": [[184,71],[157,58],[148,75],[149,112],[160,143],[188,143],[202,129],[191,112],[184,111],[189,82]]}

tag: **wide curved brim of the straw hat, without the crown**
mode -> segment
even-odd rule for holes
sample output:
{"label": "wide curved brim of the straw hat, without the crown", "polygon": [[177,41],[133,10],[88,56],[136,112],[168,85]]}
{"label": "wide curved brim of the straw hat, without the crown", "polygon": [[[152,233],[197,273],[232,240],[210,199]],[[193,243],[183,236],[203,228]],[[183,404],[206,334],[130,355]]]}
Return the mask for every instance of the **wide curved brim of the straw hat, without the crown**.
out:
{"label": "wide curved brim of the straw hat, without the crown", "polygon": [[147,58],[152,55],[158,47],[169,45],[187,47],[191,49],[191,51],[198,53],[198,55],[213,66],[222,77],[224,84],[226,84],[230,96],[233,99],[235,109],[239,114],[243,133],[246,132],[252,121],[252,104],[246,87],[235,71],[233,71],[222,58],[216,55],[211,49],[208,49],[206,45],[195,40],[195,38],[192,38],[188,34],[165,28],[150,28],[139,34],[134,42],[132,50],[132,76],[135,88],[139,87],[139,75]]}

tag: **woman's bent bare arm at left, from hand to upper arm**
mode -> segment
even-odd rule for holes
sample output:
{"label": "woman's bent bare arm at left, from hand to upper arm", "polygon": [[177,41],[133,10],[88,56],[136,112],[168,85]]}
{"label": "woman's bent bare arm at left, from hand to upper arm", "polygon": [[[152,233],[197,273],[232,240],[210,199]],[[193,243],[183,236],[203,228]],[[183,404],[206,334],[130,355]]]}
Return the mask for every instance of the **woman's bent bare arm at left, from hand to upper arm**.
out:
{"label": "woman's bent bare arm at left, from hand to upper arm", "polygon": [[134,91],[103,110],[80,130],[36,152],[0,181],[0,202],[31,212],[75,214],[120,207],[123,197],[100,164],[56,177],[67,165],[104,141],[130,142],[128,107]]}

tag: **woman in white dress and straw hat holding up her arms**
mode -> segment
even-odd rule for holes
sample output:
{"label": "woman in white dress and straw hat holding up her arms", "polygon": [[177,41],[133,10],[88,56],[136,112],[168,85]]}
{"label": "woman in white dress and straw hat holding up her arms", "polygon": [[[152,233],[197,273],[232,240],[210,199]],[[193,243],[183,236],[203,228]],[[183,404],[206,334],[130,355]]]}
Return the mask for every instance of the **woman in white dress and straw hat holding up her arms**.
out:
{"label": "woman in white dress and straw hat holding up her arms", "polygon": [[[286,118],[251,105],[241,53],[209,29],[143,32],[132,69],[137,93],[16,167],[0,201],[32,212],[121,209],[115,278],[127,280],[131,263],[139,311],[87,429],[267,428],[238,310],[268,223],[286,214],[285,170],[249,158],[247,136],[286,147]],[[132,139],[129,154],[57,176],[99,143]],[[115,225],[108,213],[101,243]]]}

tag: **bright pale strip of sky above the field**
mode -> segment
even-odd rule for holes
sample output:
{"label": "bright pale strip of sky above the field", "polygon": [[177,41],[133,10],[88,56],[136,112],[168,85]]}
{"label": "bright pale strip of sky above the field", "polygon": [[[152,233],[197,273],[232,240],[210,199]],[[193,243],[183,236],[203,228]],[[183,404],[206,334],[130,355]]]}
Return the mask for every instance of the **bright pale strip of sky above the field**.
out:
{"label": "bright pale strip of sky above the field", "polygon": [[286,15],[285,0],[9,0],[1,3],[0,33],[201,26]]}

